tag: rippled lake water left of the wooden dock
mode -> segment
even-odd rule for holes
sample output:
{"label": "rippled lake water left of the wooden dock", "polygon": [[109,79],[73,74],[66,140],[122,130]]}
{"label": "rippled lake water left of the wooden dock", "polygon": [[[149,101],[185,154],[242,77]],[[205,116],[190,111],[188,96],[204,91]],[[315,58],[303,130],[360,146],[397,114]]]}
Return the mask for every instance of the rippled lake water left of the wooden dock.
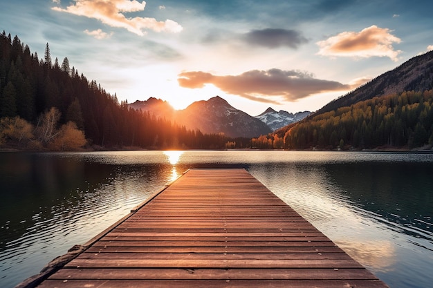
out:
{"label": "rippled lake water left of the wooden dock", "polygon": [[167,183],[171,167],[95,157],[0,154],[0,287],[14,287],[122,218]]}

